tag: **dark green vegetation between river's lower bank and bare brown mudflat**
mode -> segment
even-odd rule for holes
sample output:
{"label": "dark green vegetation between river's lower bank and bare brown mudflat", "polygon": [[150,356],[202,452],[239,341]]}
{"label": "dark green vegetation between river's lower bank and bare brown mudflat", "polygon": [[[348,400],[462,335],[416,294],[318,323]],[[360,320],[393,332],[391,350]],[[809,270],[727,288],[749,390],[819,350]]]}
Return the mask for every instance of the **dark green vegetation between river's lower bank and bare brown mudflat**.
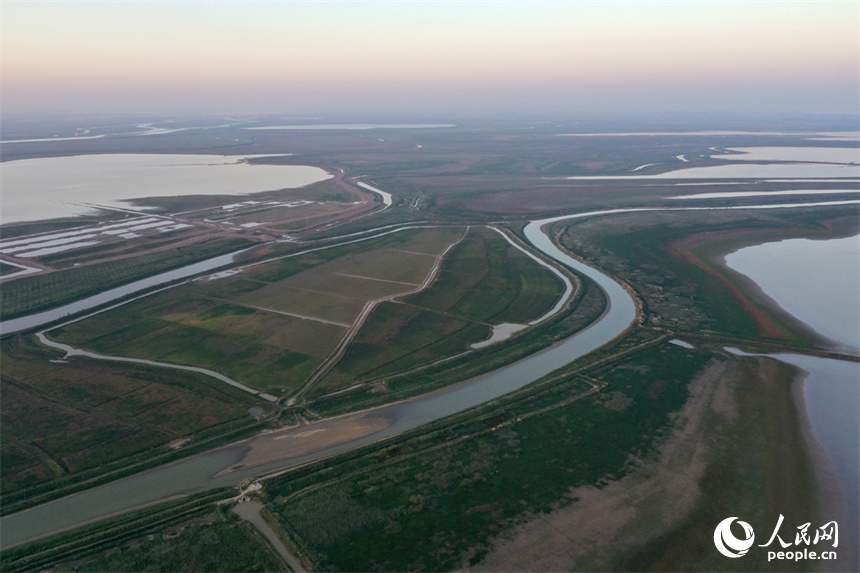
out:
{"label": "dark green vegetation between river's lower bank and bare brown mudflat", "polygon": [[648,454],[711,359],[662,340],[640,342],[621,366],[596,365],[593,381],[555,373],[383,446],[268,480],[272,511],[315,569],[476,563],[512,520],[570,503],[571,487],[621,477],[631,455]]}

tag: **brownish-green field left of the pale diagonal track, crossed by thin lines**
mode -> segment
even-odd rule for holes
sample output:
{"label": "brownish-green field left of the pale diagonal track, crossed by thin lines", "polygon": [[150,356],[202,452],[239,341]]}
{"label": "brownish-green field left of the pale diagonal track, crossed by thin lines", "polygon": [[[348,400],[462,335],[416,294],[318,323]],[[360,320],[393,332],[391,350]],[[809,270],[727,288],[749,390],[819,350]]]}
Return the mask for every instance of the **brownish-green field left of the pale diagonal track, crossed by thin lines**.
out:
{"label": "brownish-green field left of the pale diagonal track, crossed by thin lines", "polygon": [[462,229],[417,229],[252,266],[62,327],[109,355],[205,367],[265,390],[297,388],[364,305],[414,290]]}

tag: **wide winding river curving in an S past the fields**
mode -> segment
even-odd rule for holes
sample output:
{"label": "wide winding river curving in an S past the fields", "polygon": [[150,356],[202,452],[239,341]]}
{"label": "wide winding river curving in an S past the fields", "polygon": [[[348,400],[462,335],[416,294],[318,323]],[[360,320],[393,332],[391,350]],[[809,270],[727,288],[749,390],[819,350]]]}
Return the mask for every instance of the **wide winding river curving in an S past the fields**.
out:
{"label": "wide winding river curving in an S past the fields", "polygon": [[[858,202],[818,204],[846,203]],[[716,209],[771,209],[809,207],[811,205],[813,204],[719,207]],[[664,210],[703,209],[707,208],[680,207]],[[262,435],[6,516],[0,520],[0,527],[2,527],[0,546],[6,548],[20,544],[173,496],[235,485],[261,474],[295,467],[370,444],[522,388],[600,348],[621,335],[633,323],[636,318],[634,301],[627,291],[613,279],[573,259],[556,247],[546,234],[547,227],[552,223],[569,219],[645,210],[651,209],[614,209],[564,215],[533,221],[526,226],[525,235],[535,247],[552,259],[592,279],[605,291],[609,301],[606,311],[596,322],[556,346],[468,383],[456,385],[454,388],[381,406],[364,413],[352,414],[350,416],[360,416],[365,422],[378,422],[375,427],[380,429],[365,432],[355,439],[343,441],[324,449],[312,452],[303,452],[300,449],[292,450],[294,454],[282,452],[271,459],[258,460],[258,463],[246,463],[245,460],[255,451],[255,447],[259,447],[258,444],[266,441],[271,443],[273,439],[278,439],[272,438],[271,435]],[[32,326],[34,325],[30,327]],[[325,421],[321,422],[321,424],[324,423]],[[372,426],[372,424],[368,425]],[[305,431],[307,430],[308,428],[305,428]]]}

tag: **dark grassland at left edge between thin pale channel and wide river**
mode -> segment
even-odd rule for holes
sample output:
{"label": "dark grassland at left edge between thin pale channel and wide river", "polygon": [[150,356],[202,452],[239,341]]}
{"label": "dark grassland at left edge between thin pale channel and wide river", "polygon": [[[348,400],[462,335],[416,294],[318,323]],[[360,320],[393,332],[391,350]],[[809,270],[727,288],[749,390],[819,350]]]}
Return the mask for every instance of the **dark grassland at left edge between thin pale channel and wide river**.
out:
{"label": "dark grassland at left edge between thin pale channel and wide river", "polygon": [[81,358],[51,362],[60,357],[24,336],[4,340],[4,511],[114,462],[155,458],[203,431],[241,429],[254,422],[249,407],[266,407],[206,376]]}

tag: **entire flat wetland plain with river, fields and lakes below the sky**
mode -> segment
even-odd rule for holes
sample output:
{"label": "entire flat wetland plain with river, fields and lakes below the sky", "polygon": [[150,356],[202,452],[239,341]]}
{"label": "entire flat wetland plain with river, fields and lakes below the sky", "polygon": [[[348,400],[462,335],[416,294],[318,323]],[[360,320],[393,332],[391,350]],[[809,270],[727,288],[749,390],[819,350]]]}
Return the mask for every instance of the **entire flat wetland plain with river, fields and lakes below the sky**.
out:
{"label": "entire flat wetland plain with river, fields and lakes below the sky", "polygon": [[856,146],[567,131],[4,148],[4,570],[729,570],[732,515],[855,568]]}

